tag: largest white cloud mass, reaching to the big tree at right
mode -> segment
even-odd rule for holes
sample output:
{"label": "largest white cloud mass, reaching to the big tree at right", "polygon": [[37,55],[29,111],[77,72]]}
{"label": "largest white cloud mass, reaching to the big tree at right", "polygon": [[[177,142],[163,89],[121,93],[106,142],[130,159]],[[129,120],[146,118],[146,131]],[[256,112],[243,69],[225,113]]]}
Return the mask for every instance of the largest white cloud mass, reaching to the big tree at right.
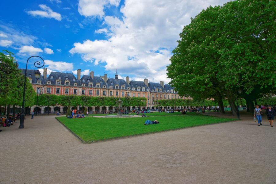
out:
{"label": "largest white cloud mass, reaching to the big tree at right", "polygon": [[[168,83],[166,66],[170,64],[171,50],[177,46],[183,26],[202,9],[227,1],[125,0],[120,9],[122,20],[106,16],[106,28],[95,31],[107,34],[108,40],[83,40],[74,43],[69,52],[80,54],[84,61],[102,63],[105,70],[114,72],[117,69],[121,75],[133,75],[133,79],[148,78],[151,82]],[[104,15],[105,5],[97,6],[100,7],[97,12],[89,2],[79,1],[80,14]]]}

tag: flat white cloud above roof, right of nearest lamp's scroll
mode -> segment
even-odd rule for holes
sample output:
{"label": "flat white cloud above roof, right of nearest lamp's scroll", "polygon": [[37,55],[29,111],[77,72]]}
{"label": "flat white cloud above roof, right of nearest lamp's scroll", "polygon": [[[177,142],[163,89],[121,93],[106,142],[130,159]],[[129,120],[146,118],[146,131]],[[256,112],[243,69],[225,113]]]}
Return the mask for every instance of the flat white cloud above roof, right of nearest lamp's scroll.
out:
{"label": "flat white cloud above roof, right of nearest lamp's scroll", "polygon": [[64,72],[66,71],[72,71],[73,70],[73,63],[66,63],[63,61],[52,61],[52,60],[44,60],[45,61],[45,65],[44,67],[49,70],[53,70],[53,71],[59,71],[59,72]]}

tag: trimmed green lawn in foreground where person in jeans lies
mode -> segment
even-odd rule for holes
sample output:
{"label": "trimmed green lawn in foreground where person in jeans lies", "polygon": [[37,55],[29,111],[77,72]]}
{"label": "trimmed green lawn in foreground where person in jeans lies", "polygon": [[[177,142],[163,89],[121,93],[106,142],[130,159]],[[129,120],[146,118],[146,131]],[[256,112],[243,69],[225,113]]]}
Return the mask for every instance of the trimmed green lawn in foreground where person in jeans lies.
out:
{"label": "trimmed green lawn in foreground where person in jeans lies", "polygon": [[[160,116],[146,118],[86,117],[77,119],[57,117],[57,119],[86,143],[91,143],[97,140],[106,140],[110,138],[118,138],[236,120],[232,118],[219,118],[203,115]],[[154,121],[156,119],[160,123],[155,125],[144,125],[144,122],[147,119],[151,121]]]}

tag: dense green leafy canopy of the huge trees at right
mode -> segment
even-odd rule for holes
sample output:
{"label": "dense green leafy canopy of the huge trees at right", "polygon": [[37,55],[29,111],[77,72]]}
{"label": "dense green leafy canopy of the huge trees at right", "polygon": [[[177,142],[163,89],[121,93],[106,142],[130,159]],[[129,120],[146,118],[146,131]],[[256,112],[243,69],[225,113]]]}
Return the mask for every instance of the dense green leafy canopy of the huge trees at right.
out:
{"label": "dense green leafy canopy of the huge trees at right", "polygon": [[218,103],[226,97],[233,106],[237,88],[248,102],[275,93],[275,7],[237,0],[202,10],[183,28],[167,67],[178,94]]}

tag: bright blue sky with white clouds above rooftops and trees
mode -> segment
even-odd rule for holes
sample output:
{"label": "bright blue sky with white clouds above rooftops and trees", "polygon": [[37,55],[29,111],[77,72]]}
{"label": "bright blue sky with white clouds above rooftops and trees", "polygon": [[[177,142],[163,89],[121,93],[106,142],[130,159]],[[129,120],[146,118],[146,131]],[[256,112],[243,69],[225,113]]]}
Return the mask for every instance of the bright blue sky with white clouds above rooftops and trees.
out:
{"label": "bright blue sky with white clouds above rooftops and trees", "polygon": [[[25,68],[29,56],[50,71],[169,82],[166,66],[179,33],[202,9],[226,0],[2,1],[0,50]],[[33,62],[28,64],[34,69]],[[48,72],[49,74],[49,72]]]}

